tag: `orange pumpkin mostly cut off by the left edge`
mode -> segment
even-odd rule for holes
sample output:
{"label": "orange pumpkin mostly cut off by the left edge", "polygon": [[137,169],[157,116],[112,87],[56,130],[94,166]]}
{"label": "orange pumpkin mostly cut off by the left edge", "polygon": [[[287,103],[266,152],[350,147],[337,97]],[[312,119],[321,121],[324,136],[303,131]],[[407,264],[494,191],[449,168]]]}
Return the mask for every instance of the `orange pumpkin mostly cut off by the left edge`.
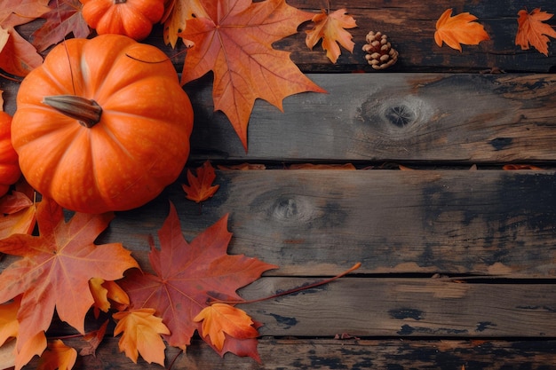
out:
{"label": "orange pumpkin mostly cut off by the left edge", "polygon": [[0,112],[0,197],[8,193],[10,185],[21,176],[18,154],[11,139],[12,116]]}

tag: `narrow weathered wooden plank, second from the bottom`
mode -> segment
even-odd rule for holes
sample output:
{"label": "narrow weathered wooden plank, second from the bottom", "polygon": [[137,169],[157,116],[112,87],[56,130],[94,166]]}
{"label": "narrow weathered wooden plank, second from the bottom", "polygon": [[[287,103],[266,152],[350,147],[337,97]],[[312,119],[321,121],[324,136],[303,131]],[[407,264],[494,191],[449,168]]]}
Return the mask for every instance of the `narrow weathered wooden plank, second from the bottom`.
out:
{"label": "narrow weathered wooden plank, second from the bottom", "polygon": [[[259,279],[244,288],[242,296],[264,297],[307,280]],[[556,336],[555,302],[552,282],[348,277],[242,309],[264,324],[261,335],[271,336],[550,338]]]}

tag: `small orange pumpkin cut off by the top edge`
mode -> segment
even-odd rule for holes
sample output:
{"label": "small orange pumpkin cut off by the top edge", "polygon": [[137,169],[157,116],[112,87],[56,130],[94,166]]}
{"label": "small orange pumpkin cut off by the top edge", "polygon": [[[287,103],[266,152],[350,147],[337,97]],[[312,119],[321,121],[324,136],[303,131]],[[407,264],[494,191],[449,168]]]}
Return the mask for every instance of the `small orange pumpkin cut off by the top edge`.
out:
{"label": "small orange pumpkin cut off by the top edge", "polygon": [[80,0],[83,19],[99,35],[127,35],[143,40],[162,19],[164,0]]}

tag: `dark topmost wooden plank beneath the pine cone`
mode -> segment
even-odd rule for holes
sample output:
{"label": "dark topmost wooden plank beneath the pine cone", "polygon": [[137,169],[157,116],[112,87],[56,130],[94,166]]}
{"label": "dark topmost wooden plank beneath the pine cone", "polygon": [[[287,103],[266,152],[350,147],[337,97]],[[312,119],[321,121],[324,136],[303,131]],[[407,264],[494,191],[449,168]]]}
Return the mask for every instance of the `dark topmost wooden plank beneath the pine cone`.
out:
{"label": "dark topmost wooden plank beneath the pine cone", "polygon": [[[308,12],[321,12],[326,4],[321,0],[289,0],[288,4]],[[532,7],[532,6],[531,6]],[[550,0],[538,0],[535,7],[556,12]],[[471,72],[498,67],[515,72],[547,73],[556,67],[556,46],[549,43],[549,57],[535,49],[521,51],[515,45],[518,12],[523,4],[504,0],[502,2],[470,2],[465,0],[439,0],[419,2],[417,0],[374,1],[343,0],[331,4],[331,11],[346,8],[357,21],[358,28],[350,29],[355,46],[353,53],[342,49],[336,64],[332,64],[317,44],[313,51],[306,47],[305,32],[310,25],[301,25],[300,32],[274,43],[274,48],[291,52],[291,59],[304,72],[373,72],[364,59],[362,45],[369,31],[381,31],[388,35],[393,47],[400,52],[399,62],[390,70],[393,72]],[[479,18],[491,40],[478,46],[463,46],[463,52],[438,47],[434,43],[436,20],[446,9],[452,8],[454,14],[471,12]],[[528,9],[532,11],[532,9]],[[552,26],[556,20],[548,20]],[[162,42],[162,31],[155,29],[147,43],[162,48],[168,55],[176,55],[183,47],[172,51]],[[186,57],[181,54],[174,59],[177,66],[183,65]]]}

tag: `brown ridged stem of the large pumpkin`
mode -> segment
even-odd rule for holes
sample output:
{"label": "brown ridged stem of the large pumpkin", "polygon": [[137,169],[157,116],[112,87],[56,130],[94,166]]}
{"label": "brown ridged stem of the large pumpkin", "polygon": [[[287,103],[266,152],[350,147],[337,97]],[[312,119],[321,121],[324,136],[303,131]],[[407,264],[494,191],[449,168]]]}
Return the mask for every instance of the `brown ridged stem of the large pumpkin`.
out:
{"label": "brown ridged stem of the large pumpkin", "polygon": [[52,106],[52,108],[61,114],[75,118],[75,120],[87,128],[91,128],[100,122],[102,107],[92,99],[76,95],[54,95],[52,97],[44,97],[43,103],[47,106]]}

